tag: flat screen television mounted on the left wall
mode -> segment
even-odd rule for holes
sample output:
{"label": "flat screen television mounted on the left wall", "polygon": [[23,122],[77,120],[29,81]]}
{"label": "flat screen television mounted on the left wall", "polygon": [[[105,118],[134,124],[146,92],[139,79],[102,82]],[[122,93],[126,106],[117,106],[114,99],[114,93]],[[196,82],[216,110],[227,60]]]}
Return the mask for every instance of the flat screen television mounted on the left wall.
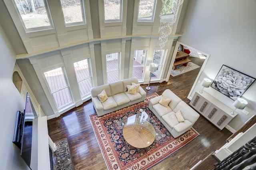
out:
{"label": "flat screen television mounted on the left wall", "polygon": [[24,117],[25,118],[24,118],[23,132],[22,132],[23,135],[21,140],[20,155],[23,158],[23,160],[26,162],[26,164],[29,167],[31,167],[33,121],[37,119],[37,115],[28,93],[26,96]]}

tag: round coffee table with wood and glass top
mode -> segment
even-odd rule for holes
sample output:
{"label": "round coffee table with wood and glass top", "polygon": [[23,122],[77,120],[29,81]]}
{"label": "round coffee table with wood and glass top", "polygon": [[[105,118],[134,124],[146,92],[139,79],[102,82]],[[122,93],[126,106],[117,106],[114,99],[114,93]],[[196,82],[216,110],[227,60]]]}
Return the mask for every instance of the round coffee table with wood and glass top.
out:
{"label": "round coffee table with wood and glass top", "polygon": [[[136,115],[134,115],[136,116]],[[135,148],[146,148],[150,146],[156,137],[156,131],[148,121],[140,122],[136,117],[134,123],[125,124],[123,128],[124,139]]]}

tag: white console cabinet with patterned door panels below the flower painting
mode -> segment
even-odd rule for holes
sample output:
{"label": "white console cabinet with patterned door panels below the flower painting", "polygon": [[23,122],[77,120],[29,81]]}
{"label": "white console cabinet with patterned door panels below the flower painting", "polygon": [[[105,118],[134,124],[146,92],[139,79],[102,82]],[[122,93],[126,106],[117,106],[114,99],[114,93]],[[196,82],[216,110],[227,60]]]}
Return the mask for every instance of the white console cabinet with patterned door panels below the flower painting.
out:
{"label": "white console cabinet with patterned door panels below the flower painting", "polygon": [[234,115],[230,114],[229,112],[233,111],[232,109],[205,91],[203,93],[196,92],[189,104],[220,130],[238,115],[236,112],[234,112]]}

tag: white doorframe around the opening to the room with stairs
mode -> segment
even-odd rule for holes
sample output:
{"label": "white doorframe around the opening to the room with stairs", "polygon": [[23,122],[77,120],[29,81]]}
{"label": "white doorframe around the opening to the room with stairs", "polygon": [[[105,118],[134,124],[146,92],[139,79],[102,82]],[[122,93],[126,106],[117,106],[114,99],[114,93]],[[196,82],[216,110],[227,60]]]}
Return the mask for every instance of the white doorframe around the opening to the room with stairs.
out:
{"label": "white doorframe around the opening to the room with stairs", "polygon": [[196,86],[196,82],[198,81],[198,79],[199,79],[199,77],[200,77],[200,75],[201,75],[201,73],[202,73],[202,71],[203,71],[203,69],[204,69],[204,66],[206,65],[206,63],[207,63],[207,61],[208,61],[208,59],[209,59],[209,57],[210,57],[210,54],[204,53],[203,51],[200,51],[200,50],[198,50],[198,49],[196,49],[196,48],[194,48],[194,47],[191,47],[190,45],[187,45],[187,44],[184,44],[184,43],[182,43],[182,42],[177,41],[177,43],[176,43],[176,45],[175,45],[175,48],[174,48],[174,51],[173,51],[173,54],[172,54],[172,60],[171,60],[171,63],[170,63],[169,69],[168,69],[168,74],[166,75],[165,81],[169,81],[170,74],[171,74],[171,71],[172,71],[172,66],[173,66],[173,63],[174,63],[174,60],[175,60],[177,51],[178,51],[178,47],[179,47],[180,45],[184,45],[184,46],[186,46],[186,47],[189,47],[190,49],[193,49],[193,50],[195,50],[195,51],[198,51],[198,52],[200,52],[200,53],[206,55],[206,59],[204,60],[204,63],[203,63],[203,65],[202,65],[202,67],[201,67],[201,69],[200,69],[200,71],[199,71],[199,73],[198,73],[198,75],[197,75],[197,77],[196,77],[196,80],[194,81],[194,84],[192,85],[192,87],[191,87],[191,89],[190,89],[190,92],[188,93],[188,97],[187,97],[187,98],[191,100],[192,97],[190,97],[190,95],[191,95],[192,91],[194,90],[194,88],[195,88],[195,86]]}

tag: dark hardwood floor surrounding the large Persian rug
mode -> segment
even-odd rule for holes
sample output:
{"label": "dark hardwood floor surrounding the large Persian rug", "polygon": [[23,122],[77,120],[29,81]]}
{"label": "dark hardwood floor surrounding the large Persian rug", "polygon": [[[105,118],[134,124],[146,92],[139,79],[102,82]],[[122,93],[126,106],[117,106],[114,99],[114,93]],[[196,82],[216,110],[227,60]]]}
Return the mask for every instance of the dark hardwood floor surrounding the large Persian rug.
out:
{"label": "dark hardwood floor surrounding the large Persian rug", "polygon": [[[193,63],[202,66],[203,59],[190,57]],[[165,89],[172,90],[183,101],[189,103],[186,97],[196,79],[200,68],[194,69],[176,77],[170,76],[168,82],[152,83],[150,90],[142,85],[148,94],[158,93]],[[90,123],[89,115],[96,113],[91,100],[86,101],[81,106],[74,108],[60,117],[48,121],[49,135],[54,142],[63,138],[68,138],[72,154],[74,169],[83,170],[105,170],[107,169],[100,147],[98,145],[94,130]],[[203,160],[212,151],[219,149],[226,143],[226,139],[232,134],[226,128],[219,131],[214,125],[200,116],[193,128],[200,134],[192,142],[172,154],[152,170],[188,170],[198,161]]]}

